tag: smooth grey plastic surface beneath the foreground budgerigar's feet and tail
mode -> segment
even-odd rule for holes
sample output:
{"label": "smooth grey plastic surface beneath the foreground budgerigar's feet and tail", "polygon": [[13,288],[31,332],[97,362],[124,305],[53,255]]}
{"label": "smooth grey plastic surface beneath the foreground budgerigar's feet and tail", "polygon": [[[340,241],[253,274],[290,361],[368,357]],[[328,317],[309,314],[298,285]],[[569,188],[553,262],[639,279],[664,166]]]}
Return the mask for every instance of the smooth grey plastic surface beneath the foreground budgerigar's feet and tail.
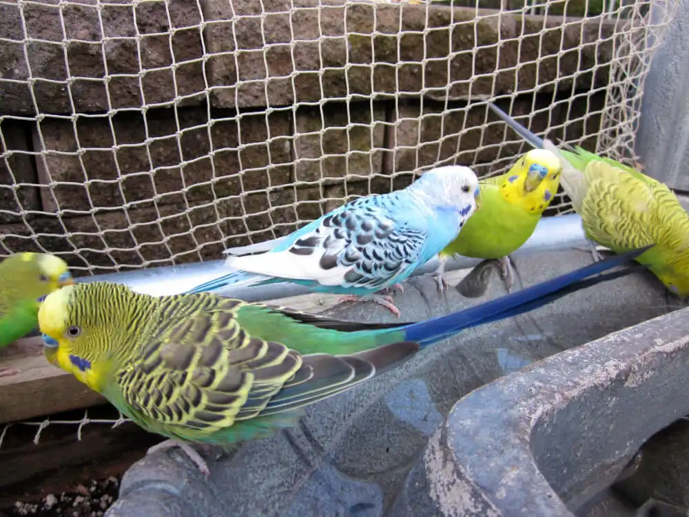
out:
{"label": "smooth grey plastic surface beneath the foreground budgerigar's feet and tail", "polygon": [[[589,262],[590,254],[576,251],[519,256],[515,287]],[[405,287],[404,294],[395,295],[395,303],[409,320],[446,314],[505,292],[497,276],[481,298],[463,298],[454,289],[442,296],[429,276],[413,278]],[[234,456],[209,461],[208,482],[175,449],[143,458],[125,474],[120,498],[106,515],[458,515],[438,506],[433,495],[437,487],[433,491],[407,478],[455,402],[532,361],[664,314],[677,307],[673,300],[668,305],[655,278],[638,274],[567,296],[531,314],[469,330],[389,374],[313,405],[295,429],[247,443]],[[393,317],[371,303],[345,304],[329,313],[356,321]],[[492,407],[497,423],[500,409]],[[456,418],[451,421],[455,427],[464,426]],[[562,450],[571,449],[581,438],[565,434]],[[557,450],[554,454],[559,461]],[[438,473],[445,475],[445,494],[452,494],[453,471]],[[586,484],[583,478],[579,482]]]}

